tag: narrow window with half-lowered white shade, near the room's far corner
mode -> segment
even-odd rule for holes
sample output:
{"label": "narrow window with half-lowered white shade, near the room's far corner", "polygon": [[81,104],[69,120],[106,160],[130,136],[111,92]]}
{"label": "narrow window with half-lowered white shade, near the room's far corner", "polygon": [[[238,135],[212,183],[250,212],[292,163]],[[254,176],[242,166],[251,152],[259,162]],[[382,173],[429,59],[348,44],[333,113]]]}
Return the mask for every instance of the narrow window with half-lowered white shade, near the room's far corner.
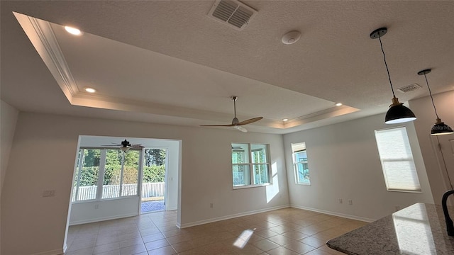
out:
{"label": "narrow window with half-lowered white shade, near the room's far corner", "polygon": [[293,169],[297,184],[310,185],[309,166],[307,165],[306,143],[292,144]]}

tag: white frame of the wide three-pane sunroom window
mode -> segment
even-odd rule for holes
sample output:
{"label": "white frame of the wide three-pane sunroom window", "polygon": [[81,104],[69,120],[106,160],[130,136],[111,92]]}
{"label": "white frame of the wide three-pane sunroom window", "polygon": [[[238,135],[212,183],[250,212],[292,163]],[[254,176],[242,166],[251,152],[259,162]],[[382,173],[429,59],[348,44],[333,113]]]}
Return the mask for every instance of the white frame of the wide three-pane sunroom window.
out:
{"label": "white frame of the wide three-pane sunroom window", "polygon": [[[96,198],[94,199],[86,199],[86,200],[77,200],[77,197],[78,197],[78,193],[79,193],[79,180],[80,180],[80,176],[81,176],[81,173],[82,173],[82,166],[83,166],[83,162],[84,162],[84,150],[85,149],[100,149],[101,150],[101,155],[100,155],[100,158],[99,158],[99,172],[98,172],[98,181],[96,183],[97,185],[97,189],[96,189]],[[71,203],[87,203],[87,202],[93,202],[93,201],[101,201],[101,200],[116,200],[116,199],[123,199],[123,198],[133,198],[133,197],[136,197],[136,196],[140,196],[140,184],[139,181],[140,181],[140,176],[141,176],[141,173],[142,173],[142,168],[143,168],[143,164],[141,164],[141,162],[143,162],[143,149],[130,149],[130,150],[138,150],[139,151],[139,165],[138,165],[138,176],[137,176],[137,187],[136,187],[136,193],[135,195],[129,195],[129,196],[121,196],[121,193],[122,193],[122,188],[123,188],[123,169],[124,169],[124,155],[123,155],[123,159],[122,159],[122,162],[121,162],[121,172],[120,172],[120,191],[118,193],[118,197],[115,197],[115,198],[102,198],[102,191],[103,191],[103,183],[104,183],[104,171],[106,169],[106,154],[107,154],[107,150],[108,149],[116,149],[116,148],[97,148],[97,147],[80,147],[79,148],[79,153],[80,153],[80,157],[79,157],[79,162],[77,162],[77,166],[79,168],[79,171],[77,172],[78,174],[78,178],[77,178],[77,183],[75,183],[75,185],[73,186],[73,190],[74,190],[74,195],[72,196],[71,198]],[[120,149],[118,149],[120,150]],[[123,152],[124,153],[124,152]],[[127,153],[127,152],[126,152]],[[74,198],[74,200],[72,200]]]}

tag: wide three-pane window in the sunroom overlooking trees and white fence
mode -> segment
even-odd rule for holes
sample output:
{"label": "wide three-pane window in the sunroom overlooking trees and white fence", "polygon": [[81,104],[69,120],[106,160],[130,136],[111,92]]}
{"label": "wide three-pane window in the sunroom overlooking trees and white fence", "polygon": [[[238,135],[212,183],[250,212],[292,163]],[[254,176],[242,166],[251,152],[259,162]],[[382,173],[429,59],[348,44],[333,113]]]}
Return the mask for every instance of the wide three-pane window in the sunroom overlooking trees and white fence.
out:
{"label": "wide three-pane window in the sunroom overlooking trees and white fence", "polygon": [[79,149],[72,202],[137,196],[140,152]]}

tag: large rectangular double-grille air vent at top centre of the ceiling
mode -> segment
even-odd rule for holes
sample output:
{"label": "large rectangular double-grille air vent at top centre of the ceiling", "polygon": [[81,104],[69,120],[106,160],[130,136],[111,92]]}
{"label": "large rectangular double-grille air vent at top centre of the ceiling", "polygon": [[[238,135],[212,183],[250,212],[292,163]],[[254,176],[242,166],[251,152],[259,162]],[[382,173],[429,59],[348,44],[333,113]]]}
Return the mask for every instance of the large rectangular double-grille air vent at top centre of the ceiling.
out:
{"label": "large rectangular double-grille air vent at top centre of the ceiling", "polygon": [[208,16],[236,30],[243,30],[257,14],[253,8],[236,0],[217,0]]}

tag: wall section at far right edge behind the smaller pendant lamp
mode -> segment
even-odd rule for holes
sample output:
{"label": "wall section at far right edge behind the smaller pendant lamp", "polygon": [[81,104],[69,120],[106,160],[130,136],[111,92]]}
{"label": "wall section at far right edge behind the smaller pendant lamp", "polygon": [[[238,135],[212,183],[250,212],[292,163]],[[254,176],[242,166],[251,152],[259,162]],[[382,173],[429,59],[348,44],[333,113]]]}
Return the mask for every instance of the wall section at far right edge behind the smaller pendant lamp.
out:
{"label": "wall section at far right edge behind the smaller pendant lamp", "polygon": [[[433,95],[433,101],[441,120],[454,128],[454,91]],[[414,122],[418,135],[419,146],[423,153],[424,164],[426,165],[428,180],[431,183],[433,200],[441,204],[441,197],[447,191],[443,181],[441,169],[438,166],[436,154],[431,142],[431,128],[436,121],[432,101],[429,96],[409,101],[411,111],[416,115]]]}

